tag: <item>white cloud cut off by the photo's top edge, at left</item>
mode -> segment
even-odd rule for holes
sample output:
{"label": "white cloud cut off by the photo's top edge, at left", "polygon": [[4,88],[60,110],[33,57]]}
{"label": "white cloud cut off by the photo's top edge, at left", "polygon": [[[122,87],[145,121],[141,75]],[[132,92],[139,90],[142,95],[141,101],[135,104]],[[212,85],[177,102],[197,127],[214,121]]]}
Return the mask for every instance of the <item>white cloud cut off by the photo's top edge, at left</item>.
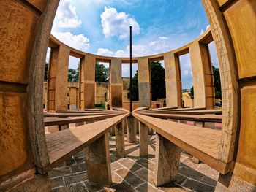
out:
{"label": "white cloud cut off by the photo's top edge, at left", "polygon": [[72,0],[61,0],[53,23],[53,30],[59,28],[77,28],[82,24]]}

